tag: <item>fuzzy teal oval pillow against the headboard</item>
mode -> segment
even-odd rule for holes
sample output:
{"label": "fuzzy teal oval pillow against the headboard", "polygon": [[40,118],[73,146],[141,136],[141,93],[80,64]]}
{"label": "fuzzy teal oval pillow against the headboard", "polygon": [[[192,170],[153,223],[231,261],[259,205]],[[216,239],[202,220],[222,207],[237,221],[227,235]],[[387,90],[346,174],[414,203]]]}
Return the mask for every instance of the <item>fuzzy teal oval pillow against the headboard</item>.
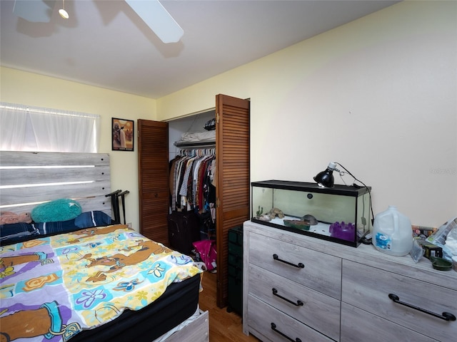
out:
{"label": "fuzzy teal oval pillow against the headboard", "polygon": [[81,204],[73,199],[61,198],[39,204],[31,211],[34,222],[59,222],[75,219],[81,214]]}

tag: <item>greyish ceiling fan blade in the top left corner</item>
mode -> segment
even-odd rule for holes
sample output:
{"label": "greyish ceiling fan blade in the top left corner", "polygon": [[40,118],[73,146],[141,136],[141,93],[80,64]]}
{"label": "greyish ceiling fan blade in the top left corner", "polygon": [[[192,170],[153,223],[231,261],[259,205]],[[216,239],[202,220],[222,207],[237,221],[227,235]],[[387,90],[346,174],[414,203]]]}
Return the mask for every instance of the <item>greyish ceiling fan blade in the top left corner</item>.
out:
{"label": "greyish ceiling fan blade in the top left corner", "polygon": [[15,0],[13,13],[32,23],[49,23],[56,0]]}

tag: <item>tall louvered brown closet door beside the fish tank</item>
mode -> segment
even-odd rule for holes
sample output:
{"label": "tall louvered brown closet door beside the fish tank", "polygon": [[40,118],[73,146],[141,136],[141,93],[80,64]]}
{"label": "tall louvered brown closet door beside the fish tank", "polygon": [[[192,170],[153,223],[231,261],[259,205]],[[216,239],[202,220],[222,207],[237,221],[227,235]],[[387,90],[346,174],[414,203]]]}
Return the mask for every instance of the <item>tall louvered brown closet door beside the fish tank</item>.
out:
{"label": "tall louvered brown closet door beside the fish tank", "polygon": [[216,95],[217,305],[227,305],[229,229],[249,219],[248,100]]}

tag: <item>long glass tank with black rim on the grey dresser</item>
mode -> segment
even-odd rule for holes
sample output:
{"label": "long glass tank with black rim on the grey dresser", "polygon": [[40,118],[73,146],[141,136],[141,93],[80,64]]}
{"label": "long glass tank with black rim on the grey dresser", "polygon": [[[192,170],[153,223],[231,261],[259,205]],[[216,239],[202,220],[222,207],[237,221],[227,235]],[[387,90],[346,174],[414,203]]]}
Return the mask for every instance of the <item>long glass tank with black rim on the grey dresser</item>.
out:
{"label": "long glass tank with black rim on the grey dresser", "polygon": [[371,187],[251,182],[251,221],[358,247],[371,230]]}

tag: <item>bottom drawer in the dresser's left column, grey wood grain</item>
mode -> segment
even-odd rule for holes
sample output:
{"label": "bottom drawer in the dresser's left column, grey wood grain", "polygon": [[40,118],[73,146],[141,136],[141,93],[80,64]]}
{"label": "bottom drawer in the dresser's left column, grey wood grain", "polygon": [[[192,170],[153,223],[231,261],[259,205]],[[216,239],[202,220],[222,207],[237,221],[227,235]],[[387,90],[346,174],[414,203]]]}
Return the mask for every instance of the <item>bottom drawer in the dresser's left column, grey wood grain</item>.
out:
{"label": "bottom drawer in the dresser's left column, grey wood grain", "polygon": [[[254,296],[248,296],[248,308],[247,323],[249,331],[261,338],[263,342],[296,341],[296,338],[299,338],[302,342],[334,342],[296,319],[256,299]],[[283,337],[281,333],[288,336],[288,338]],[[339,341],[339,339],[336,341]]]}

